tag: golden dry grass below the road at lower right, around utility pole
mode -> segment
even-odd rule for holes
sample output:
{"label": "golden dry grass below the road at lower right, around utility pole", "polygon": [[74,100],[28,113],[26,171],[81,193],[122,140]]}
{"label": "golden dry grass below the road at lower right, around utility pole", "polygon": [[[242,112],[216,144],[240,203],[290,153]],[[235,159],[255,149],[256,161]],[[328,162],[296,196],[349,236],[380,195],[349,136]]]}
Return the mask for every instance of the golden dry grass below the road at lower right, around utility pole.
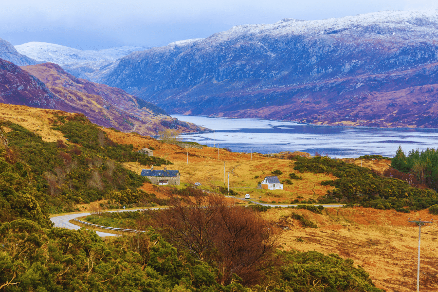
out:
{"label": "golden dry grass below the road at lower right, around utility pole", "polygon": [[[397,213],[367,208],[327,208],[323,215],[300,209],[270,209],[269,219],[279,220],[291,212],[303,215],[319,228],[302,228],[298,220],[280,220],[284,250],[337,253],[352,258],[370,274],[377,287],[386,291],[415,291],[417,277],[418,227],[408,217],[430,219],[427,210]],[[285,226],[286,225],[286,226]],[[286,228],[287,227],[287,228]],[[422,228],[421,291],[437,291],[436,258],[438,229],[435,224]],[[297,240],[298,238],[302,239]]]}

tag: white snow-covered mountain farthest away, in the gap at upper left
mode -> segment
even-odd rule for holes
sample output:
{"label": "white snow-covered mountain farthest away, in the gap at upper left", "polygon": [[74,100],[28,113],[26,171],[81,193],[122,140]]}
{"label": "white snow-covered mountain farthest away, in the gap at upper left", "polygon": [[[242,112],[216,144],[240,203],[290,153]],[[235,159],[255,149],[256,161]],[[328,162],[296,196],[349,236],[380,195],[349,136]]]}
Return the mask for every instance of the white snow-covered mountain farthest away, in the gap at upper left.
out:
{"label": "white snow-covered mountain farthest away, in the gap at upper left", "polygon": [[15,46],[17,51],[39,61],[61,65],[78,78],[94,79],[101,67],[110,66],[117,59],[135,51],[144,51],[150,47],[123,46],[102,50],[78,50],[62,45],[45,42],[28,42]]}

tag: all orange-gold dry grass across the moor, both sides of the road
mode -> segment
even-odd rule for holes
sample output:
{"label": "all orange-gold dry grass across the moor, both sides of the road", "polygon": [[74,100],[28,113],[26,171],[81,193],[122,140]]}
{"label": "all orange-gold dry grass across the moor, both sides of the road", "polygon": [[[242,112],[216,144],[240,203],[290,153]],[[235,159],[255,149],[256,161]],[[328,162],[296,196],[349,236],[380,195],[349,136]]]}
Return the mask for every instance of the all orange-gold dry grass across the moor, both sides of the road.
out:
{"label": "all orange-gold dry grass across the moor, both sides of the road", "polygon": [[[50,128],[53,119],[51,110],[32,109],[28,107],[0,105],[0,120],[10,120],[31,131],[37,132],[44,141],[63,139],[62,134]],[[63,113],[67,115],[67,113]],[[261,154],[232,153],[223,149],[204,147],[203,149],[184,149],[175,145],[161,143],[150,137],[136,133],[122,133],[103,128],[108,136],[118,143],[132,144],[134,149],[153,147],[154,156],[170,160],[173,164],[168,169],[178,169],[184,184],[200,182],[202,187],[210,185],[226,186],[227,174],[230,174],[230,187],[239,196],[250,194],[252,198],[265,202],[290,203],[292,200],[316,199],[324,195],[331,186],[321,186],[321,181],[334,179],[326,174],[299,173],[293,170],[293,161],[268,158]],[[187,163],[188,157],[188,163]],[[383,172],[388,167],[386,160],[344,159]],[[124,166],[135,172],[149,165],[126,163]],[[155,168],[156,169],[156,168]],[[257,183],[264,176],[279,169],[283,172],[280,181],[289,179],[290,173],[302,177],[292,180],[292,185],[284,185],[284,190],[259,190]],[[225,172],[225,177],[224,177]],[[257,177],[258,176],[258,177]],[[145,184],[143,189],[165,196],[166,186]],[[96,203],[78,205],[81,211],[96,208]],[[318,228],[303,228],[298,220],[289,217],[291,213],[300,214],[314,222]],[[397,213],[394,210],[376,210],[362,207],[326,208],[322,215],[308,210],[291,208],[272,208],[263,213],[281,227],[280,245],[284,250],[315,250],[324,254],[337,253],[345,258],[352,258],[370,274],[373,282],[390,292],[407,292],[416,290],[418,227],[407,222],[412,219],[432,219],[427,210]],[[428,224],[422,228],[421,237],[421,276],[420,291],[438,290],[438,226]]]}

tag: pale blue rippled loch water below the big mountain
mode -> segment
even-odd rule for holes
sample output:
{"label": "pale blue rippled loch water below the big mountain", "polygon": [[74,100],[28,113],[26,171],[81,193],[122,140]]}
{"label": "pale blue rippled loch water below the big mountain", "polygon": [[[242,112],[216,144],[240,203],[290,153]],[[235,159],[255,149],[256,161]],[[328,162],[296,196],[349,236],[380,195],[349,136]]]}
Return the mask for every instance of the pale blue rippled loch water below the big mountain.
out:
{"label": "pale blue rippled loch water below the big mountain", "polygon": [[304,151],[314,155],[316,151],[337,158],[372,154],[394,157],[399,145],[406,153],[438,145],[438,129],[312,126],[264,119],[172,116],[215,130],[183,135],[183,141],[215,147],[219,143],[220,148],[228,147],[233,152]]}

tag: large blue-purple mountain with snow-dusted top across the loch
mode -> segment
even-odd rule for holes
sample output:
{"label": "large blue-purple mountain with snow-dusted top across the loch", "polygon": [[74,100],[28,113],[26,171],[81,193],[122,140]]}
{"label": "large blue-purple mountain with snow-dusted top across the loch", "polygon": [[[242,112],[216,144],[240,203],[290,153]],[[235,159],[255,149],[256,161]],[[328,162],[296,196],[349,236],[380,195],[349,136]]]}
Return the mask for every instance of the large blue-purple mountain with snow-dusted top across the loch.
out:
{"label": "large blue-purple mountain with snow-dusted top across the loch", "polygon": [[168,112],[438,127],[438,10],[242,25],[122,58],[99,78]]}

